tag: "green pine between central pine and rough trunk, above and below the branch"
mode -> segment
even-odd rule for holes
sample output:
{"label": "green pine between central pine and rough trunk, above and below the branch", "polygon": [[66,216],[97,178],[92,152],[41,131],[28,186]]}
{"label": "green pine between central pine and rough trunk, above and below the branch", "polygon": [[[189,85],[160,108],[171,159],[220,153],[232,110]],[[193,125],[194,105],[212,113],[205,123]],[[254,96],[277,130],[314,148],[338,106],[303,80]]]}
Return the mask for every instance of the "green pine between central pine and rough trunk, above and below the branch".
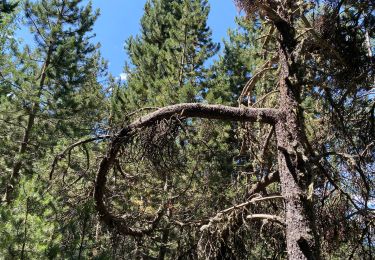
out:
{"label": "green pine between central pine and rough trunk, above and below the branch", "polygon": [[[269,61],[274,47],[274,39],[267,39],[260,34],[261,21],[250,21],[245,17],[236,17],[237,27],[228,30],[228,39],[224,40],[222,55],[213,64],[210,80],[204,98],[208,103],[224,104],[240,107],[276,107],[275,91],[276,68]],[[265,30],[267,31],[267,30]],[[263,36],[263,37],[262,37]],[[249,87],[251,86],[251,87]],[[273,171],[274,154],[269,152],[274,147],[273,129],[259,123],[217,122],[212,132],[226,132],[224,138],[215,136],[210,142],[214,149],[219,165],[225,167],[232,176],[232,183],[237,186],[234,191],[233,204],[241,204],[248,194],[248,187],[261,180],[270,171]],[[207,131],[207,127],[203,131]],[[266,145],[262,140],[269,139]],[[204,150],[201,147],[200,150]],[[228,167],[229,166],[229,167]],[[216,170],[217,171],[217,170]],[[223,181],[225,175],[221,175]],[[222,187],[220,181],[212,183]],[[273,192],[277,192],[275,189]],[[228,196],[224,193],[223,196]],[[273,205],[275,214],[280,210]],[[283,251],[284,244],[278,227],[263,229],[258,223],[244,223],[241,214],[233,216],[230,224],[222,231],[219,248],[212,248],[212,255],[222,255],[239,258],[262,258],[275,252]],[[225,231],[226,230],[226,231]],[[230,230],[230,235],[225,233]],[[263,232],[262,238],[258,233]],[[273,239],[270,237],[273,236]],[[274,239],[280,239],[275,243]],[[209,238],[208,238],[209,239]],[[207,240],[202,240],[204,246]],[[215,251],[216,250],[216,251]],[[229,255],[232,251],[233,255]]]}

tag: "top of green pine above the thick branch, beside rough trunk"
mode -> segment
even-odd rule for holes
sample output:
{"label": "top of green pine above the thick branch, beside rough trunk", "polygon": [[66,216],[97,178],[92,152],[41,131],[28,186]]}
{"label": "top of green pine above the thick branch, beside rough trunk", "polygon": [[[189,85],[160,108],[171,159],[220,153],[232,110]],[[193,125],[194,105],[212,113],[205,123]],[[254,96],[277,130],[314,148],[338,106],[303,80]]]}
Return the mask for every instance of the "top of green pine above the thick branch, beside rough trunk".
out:
{"label": "top of green pine above the thick branch, beside rough trunk", "polygon": [[209,103],[247,106],[248,103],[257,101],[256,96],[270,91],[274,79],[261,75],[259,80],[254,82],[256,84],[252,91],[241,97],[244,87],[250,83],[254,74],[261,70],[265,61],[271,58],[262,48],[270,48],[273,43],[267,42],[269,46],[263,46],[265,37],[259,33],[259,23],[236,17],[237,28],[228,30],[223,54],[211,68],[208,91],[204,95]]}

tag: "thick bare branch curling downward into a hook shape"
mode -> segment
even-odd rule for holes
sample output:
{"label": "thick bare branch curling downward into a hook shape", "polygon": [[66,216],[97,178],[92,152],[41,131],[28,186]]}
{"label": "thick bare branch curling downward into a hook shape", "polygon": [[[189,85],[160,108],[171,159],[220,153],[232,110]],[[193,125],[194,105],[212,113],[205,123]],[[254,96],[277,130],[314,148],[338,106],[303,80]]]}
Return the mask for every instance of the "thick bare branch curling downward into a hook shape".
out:
{"label": "thick bare branch curling downward into a hook shape", "polygon": [[135,130],[152,126],[157,122],[169,119],[178,115],[183,118],[207,118],[230,121],[250,121],[275,124],[279,117],[279,111],[272,108],[235,108],[222,105],[207,105],[200,103],[184,103],[178,105],[160,108],[157,111],[143,116],[129,126],[123,128],[114,136],[109,145],[106,156],[102,159],[96,175],[94,199],[95,207],[99,213],[100,219],[110,228],[116,228],[118,232],[124,235],[143,236],[149,234],[160,221],[163,209],[158,211],[157,216],[146,228],[132,228],[126,223],[126,220],[114,216],[104,202],[104,192],[107,182],[107,174],[116,162],[116,157],[121,145],[127,144]]}

